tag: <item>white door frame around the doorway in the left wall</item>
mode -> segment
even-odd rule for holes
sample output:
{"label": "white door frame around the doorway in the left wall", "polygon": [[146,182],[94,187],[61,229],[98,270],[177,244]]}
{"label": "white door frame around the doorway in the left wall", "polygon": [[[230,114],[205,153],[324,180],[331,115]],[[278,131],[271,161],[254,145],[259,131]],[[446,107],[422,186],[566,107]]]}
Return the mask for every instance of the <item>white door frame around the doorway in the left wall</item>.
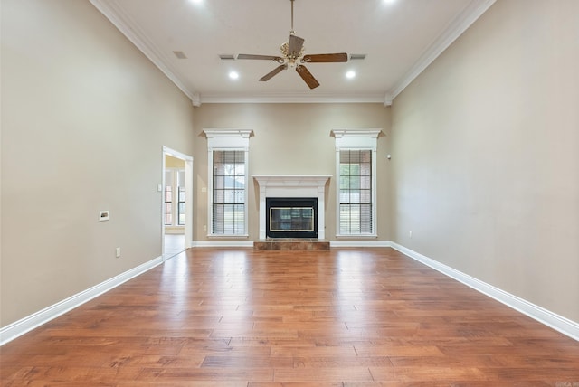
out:
{"label": "white door frame around the doorway in the left wall", "polygon": [[[189,249],[193,242],[193,156],[185,155],[175,149],[163,146],[163,173],[162,190],[165,192],[165,156],[172,156],[185,161],[185,249]],[[161,194],[161,252],[165,257],[165,199]]]}

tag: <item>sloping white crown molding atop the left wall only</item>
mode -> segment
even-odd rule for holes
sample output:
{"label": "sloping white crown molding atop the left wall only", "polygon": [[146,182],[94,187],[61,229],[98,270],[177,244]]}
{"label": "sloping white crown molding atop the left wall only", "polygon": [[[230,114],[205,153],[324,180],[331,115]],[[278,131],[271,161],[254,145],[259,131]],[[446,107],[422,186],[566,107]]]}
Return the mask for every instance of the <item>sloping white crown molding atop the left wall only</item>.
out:
{"label": "sloping white crown molding atop the left wall only", "polygon": [[175,83],[179,90],[183,91],[185,95],[191,99],[194,106],[199,106],[199,93],[194,90],[189,90],[185,84],[176,76],[176,71],[168,64],[170,61],[162,53],[161,50],[147,39],[146,33],[138,26],[138,24],[128,15],[117,1],[105,0],[90,0],[90,4],[94,5],[101,14],[105,15],[115,27],[123,33],[127,39],[135,44],[135,46],[147,56],[149,61],[152,61],[157,68],[162,71],[166,77]]}

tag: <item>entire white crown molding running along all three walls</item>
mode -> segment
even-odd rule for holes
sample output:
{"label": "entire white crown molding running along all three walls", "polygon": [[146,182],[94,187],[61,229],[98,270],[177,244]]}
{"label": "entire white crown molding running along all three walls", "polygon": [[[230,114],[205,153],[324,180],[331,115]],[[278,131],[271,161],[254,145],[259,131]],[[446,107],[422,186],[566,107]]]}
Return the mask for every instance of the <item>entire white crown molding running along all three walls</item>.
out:
{"label": "entire white crown molding running along all three walls", "polygon": [[118,2],[90,0],[90,3],[94,5],[101,14],[104,14],[130,42],[135,44],[138,50],[143,52],[169,80],[175,83],[176,87],[191,99],[194,106],[200,106],[202,103],[384,103],[384,106],[390,106],[394,98],[416,79],[432,61],[444,52],[452,42],[464,33],[471,24],[476,22],[480,15],[484,14],[495,1],[496,0],[472,0],[449,25],[449,28],[422,53],[411,70],[404,74],[401,80],[395,84],[394,88],[386,90],[384,94],[314,95],[291,93],[238,96],[225,94],[200,95],[195,90],[190,90],[185,86],[185,83],[176,76],[176,71],[171,69],[170,61],[168,61],[162,51],[147,39],[147,35],[138,28],[138,24],[130,18]]}

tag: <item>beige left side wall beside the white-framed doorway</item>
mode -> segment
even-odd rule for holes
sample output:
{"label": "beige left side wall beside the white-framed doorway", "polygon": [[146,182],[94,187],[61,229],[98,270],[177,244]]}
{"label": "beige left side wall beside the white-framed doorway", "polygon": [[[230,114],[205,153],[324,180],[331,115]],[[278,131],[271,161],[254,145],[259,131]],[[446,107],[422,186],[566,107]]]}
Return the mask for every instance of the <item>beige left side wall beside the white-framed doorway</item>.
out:
{"label": "beige left side wall beside the white-framed doorway", "polygon": [[191,101],[88,1],[2,0],[1,28],[5,326],[160,256],[162,147],[195,136]]}

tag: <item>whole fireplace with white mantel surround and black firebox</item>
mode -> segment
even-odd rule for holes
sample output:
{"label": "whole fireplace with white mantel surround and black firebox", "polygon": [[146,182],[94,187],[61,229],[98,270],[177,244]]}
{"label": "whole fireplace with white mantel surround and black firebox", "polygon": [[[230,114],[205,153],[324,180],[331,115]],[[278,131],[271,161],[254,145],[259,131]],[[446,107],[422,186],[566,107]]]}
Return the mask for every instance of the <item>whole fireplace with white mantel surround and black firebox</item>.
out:
{"label": "whole fireplace with white mantel surround and black firebox", "polygon": [[[252,175],[260,187],[260,240],[265,240],[266,237],[325,239],[325,196],[331,176]],[[304,201],[312,199],[315,199],[316,204],[305,204]],[[274,218],[270,218],[270,207],[266,205],[266,202],[271,200],[287,201],[276,205],[279,210],[274,210]],[[312,208],[315,210],[311,210]],[[274,223],[273,234],[269,231],[271,219]],[[279,234],[278,232],[286,231],[284,227],[289,228],[292,234]]]}

